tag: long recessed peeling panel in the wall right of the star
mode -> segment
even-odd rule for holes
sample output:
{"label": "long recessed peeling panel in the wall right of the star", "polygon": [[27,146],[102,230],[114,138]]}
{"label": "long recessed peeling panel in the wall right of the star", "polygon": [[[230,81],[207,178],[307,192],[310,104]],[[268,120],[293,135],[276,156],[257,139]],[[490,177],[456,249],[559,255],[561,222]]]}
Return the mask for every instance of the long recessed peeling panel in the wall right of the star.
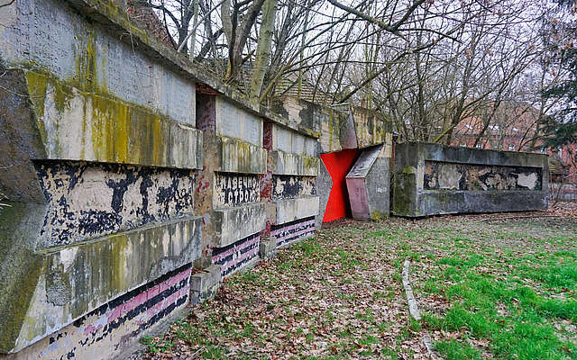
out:
{"label": "long recessed peeling panel in the wall right of the star", "polygon": [[425,162],[425,190],[541,190],[542,169]]}

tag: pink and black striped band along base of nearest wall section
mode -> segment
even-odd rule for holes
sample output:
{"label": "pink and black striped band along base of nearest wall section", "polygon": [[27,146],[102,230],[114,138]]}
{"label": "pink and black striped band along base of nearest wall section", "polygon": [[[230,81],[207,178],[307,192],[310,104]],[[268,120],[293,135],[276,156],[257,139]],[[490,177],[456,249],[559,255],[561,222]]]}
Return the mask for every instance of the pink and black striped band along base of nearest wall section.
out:
{"label": "pink and black striped band along base of nearest wall section", "polygon": [[149,284],[105,303],[32,346],[37,358],[114,357],[123,341],[151,329],[186,306],[192,265],[181,266]]}

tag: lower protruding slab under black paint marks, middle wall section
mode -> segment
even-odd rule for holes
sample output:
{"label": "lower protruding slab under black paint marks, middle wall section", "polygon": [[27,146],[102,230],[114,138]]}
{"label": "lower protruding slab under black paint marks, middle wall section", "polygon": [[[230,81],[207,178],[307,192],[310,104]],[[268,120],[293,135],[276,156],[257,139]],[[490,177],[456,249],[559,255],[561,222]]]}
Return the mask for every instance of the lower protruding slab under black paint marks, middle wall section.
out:
{"label": "lower protruding slab under black paint marks, middle wall section", "polygon": [[226,247],[241,238],[261,232],[266,222],[264,203],[245,204],[214,211],[213,226],[215,239],[213,246]]}

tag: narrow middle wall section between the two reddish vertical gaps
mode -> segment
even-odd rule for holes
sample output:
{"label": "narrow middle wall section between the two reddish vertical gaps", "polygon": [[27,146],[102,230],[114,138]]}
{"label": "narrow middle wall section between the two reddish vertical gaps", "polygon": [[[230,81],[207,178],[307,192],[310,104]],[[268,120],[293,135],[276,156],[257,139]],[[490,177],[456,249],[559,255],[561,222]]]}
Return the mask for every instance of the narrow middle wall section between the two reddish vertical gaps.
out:
{"label": "narrow middle wall section between the two reddish vertical gaps", "polygon": [[206,248],[197,266],[216,264],[228,276],[258,259],[265,229],[263,119],[218,94],[199,94],[197,127],[204,131],[206,156],[196,192]]}

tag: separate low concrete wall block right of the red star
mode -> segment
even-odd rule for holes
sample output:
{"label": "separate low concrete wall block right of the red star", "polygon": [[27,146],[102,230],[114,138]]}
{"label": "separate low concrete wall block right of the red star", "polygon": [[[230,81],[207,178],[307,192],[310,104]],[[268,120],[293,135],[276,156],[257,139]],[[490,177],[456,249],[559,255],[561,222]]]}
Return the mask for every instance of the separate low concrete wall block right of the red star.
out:
{"label": "separate low concrete wall block right of the red star", "polygon": [[547,156],[398,144],[392,211],[399,216],[545,210]]}

